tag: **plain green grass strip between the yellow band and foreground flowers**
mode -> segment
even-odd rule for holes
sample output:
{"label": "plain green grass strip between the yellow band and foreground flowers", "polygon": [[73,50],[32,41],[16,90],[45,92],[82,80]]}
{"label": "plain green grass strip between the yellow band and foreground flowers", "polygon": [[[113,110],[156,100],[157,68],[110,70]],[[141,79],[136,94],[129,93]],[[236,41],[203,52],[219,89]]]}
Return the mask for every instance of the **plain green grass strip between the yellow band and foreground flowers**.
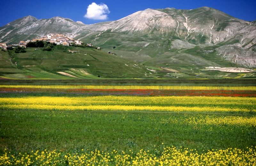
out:
{"label": "plain green grass strip between the yellow band and foreground flowers", "polygon": [[1,112],[1,153],[4,148],[14,154],[44,149],[138,152],[153,151],[155,146],[181,146],[203,153],[256,146],[255,124],[205,122],[206,118],[232,117],[238,121],[255,117],[249,114],[26,109]]}

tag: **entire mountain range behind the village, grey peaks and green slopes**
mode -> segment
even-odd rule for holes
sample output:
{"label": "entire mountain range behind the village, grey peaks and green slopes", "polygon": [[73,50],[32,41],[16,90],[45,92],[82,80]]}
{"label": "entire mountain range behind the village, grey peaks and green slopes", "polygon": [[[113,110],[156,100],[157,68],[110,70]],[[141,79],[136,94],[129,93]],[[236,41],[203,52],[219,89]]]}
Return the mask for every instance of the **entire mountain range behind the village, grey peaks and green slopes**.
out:
{"label": "entire mountain range behind the village, grey peaks and green slopes", "polygon": [[256,21],[236,19],[209,7],[146,9],[91,25],[27,16],[0,27],[0,42],[17,43],[49,33],[93,43],[139,64],[189,75],[209,66],[256,67]]}

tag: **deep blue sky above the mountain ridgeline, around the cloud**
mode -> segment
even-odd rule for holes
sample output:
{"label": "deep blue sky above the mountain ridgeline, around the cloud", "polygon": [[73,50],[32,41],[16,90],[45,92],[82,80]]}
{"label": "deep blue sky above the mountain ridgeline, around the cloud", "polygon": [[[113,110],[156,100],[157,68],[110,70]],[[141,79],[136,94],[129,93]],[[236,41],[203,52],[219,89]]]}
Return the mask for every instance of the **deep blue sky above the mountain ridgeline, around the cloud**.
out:
{"label": "deep blue sky above the mountain ridgeline, around the cloud", "polygon": [[[103,13],[100,17],[102,20],[95,20],[95,17],[89,15],[87,18],[84,17],[87,7],[93,2],[98,5],[101,3],[107,5],[108,10],[105,10],[105,16]],[[195,9],[202,6],[218,9],[239,19],[256,20],[256,0],[1,0],[0,26],[27,15],[37,19],[61,16],[74,21],[82,21],[85,24],[93,24],[121,19],[147,8]]]}

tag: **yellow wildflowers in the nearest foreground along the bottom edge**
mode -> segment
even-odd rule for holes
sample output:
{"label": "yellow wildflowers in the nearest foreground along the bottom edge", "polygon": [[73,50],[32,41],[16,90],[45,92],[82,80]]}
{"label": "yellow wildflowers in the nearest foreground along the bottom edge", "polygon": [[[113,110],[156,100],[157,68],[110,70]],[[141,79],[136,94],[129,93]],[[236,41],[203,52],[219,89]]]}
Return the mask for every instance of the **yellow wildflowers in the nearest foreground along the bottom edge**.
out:
{"label": "yellow wildflowers in the nearest foreground along the bottom edge", "polygon": [[228,148],[225,150],[209,150],[198,154],[195,149],[164,147],[160,156],[141,149],[137,153],[129,151],[111,153],[104,151],[69,154],[53,151],[31,151],[31,153],[12,155],[5,152],[0,156],[0,165],[243,165],[256,163],[255,147],[241,150]]}

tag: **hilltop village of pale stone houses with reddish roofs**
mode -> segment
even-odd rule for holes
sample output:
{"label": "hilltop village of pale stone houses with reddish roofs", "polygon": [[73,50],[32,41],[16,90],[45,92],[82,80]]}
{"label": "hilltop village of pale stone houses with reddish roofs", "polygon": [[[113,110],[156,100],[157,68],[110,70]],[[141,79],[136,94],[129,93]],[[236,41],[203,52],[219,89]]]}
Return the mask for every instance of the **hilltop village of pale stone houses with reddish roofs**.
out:
{"label": "hilltop village of pale stone houses with reddish roofs", "polygon": [[[6,43],[0,43],[0,48],[7,49],[8,47],[27,47],[29,42],[35,41],[46,41],[50,43],[55,43],[57,45],[69,46],[71,44],[83,45],[82,41],[74,40],[63,34],[48,34],[47,36],[41,37],[39,39],[20,41],[18,44],[6,45]],[[92,43],[85,44],[86,47],[93,47]],[[97,49],[100,49],[99,47]]]}

